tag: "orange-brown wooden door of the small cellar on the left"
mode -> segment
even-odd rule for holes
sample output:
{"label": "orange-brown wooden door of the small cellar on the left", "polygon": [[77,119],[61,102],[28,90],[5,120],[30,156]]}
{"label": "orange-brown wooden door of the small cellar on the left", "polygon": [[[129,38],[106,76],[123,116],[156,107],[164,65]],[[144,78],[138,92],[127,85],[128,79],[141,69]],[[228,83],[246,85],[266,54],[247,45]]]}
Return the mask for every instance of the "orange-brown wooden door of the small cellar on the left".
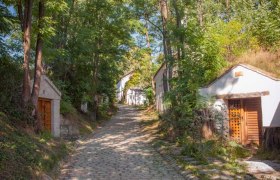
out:
{"label": "orange-brown wooden door of the small cellar on the left", "polygon": [[38,110],[44,129],[51,131],[51,101],[39,98]]}

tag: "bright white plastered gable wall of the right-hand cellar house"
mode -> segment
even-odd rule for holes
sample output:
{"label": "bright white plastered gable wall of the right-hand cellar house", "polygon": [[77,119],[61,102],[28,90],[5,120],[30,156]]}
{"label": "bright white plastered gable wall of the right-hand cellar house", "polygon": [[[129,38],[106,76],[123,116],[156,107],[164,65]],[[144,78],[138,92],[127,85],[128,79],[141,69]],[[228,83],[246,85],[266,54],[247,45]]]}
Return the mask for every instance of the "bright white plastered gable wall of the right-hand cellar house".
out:
{"label": "bright white plastered gable wall of the right-hand cellar house", "polygon": [[[243,76],[234,77],[235,72]],[[262,121],[265,127],[280,126],[280,81],[264,76],[246,66],[239,65],[206,88],[200,89],[203,96],[240,94],[269,91],[261,97]]]}

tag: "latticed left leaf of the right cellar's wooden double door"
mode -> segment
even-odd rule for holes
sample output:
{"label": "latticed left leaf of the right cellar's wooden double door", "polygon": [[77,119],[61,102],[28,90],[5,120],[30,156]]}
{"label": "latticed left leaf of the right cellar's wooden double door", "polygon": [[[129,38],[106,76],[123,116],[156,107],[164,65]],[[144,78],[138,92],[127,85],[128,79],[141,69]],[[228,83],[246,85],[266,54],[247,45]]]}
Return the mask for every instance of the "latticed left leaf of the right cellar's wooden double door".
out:
{"label": "latticed left leaf of the right cellar's wooden double door", "polygon": [[242,143],[242,104],[241,100],[229,100],[229,135],[234,141]]}

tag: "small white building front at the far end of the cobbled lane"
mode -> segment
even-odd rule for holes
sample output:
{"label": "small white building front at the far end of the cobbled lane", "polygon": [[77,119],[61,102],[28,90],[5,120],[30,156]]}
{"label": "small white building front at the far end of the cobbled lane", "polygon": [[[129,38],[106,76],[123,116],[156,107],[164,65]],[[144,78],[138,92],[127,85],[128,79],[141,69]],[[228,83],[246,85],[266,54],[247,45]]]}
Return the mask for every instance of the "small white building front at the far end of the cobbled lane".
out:
{"label": "small white building front at the far end of the cobbled lane", "polygon": [[144,105],[147,101],[146,95],[140,89],[128,89],[126,95],[126,103],[128,105]]}

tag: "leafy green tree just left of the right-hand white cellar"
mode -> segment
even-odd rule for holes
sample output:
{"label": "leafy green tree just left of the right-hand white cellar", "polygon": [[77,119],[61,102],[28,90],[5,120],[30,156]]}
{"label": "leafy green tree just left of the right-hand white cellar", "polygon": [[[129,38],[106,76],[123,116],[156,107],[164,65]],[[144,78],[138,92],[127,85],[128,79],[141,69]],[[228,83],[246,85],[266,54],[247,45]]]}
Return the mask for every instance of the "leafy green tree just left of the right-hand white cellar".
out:
{"label": "leafy green tree just left of the right-hand white cellar", "polygon": [[172,122],[173,130],[179,133],[176,136],[193,129],[198,88],[216,77],[225,64],[217,42],[205,36],[195,21],[192,23],[186,32],[189,47],[184,58],[174,62],[174,66],[178,67],[178,76],[171,80],[172,90],[165,96],[165,102],[171,107],[165,119]]}

